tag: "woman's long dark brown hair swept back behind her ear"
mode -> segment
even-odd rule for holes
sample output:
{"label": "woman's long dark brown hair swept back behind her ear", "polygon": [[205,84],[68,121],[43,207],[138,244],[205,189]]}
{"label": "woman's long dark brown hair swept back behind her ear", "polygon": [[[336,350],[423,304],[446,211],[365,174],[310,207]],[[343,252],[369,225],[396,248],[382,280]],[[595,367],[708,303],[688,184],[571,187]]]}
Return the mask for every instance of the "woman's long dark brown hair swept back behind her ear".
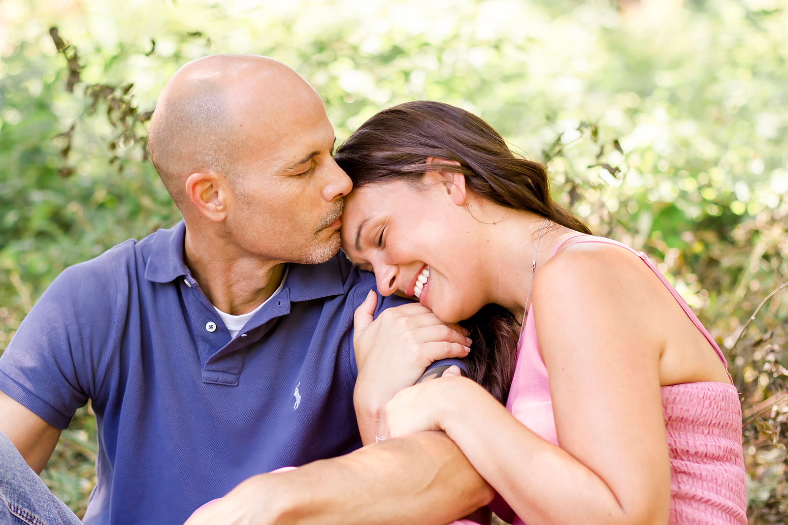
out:
{"label": "woman's long dark brown hair swept back behind her ear", "polygon": [[[426,163],[427,157],[459,162]],[[354,187],[405,180],[418,185],[427,171],[463,173],[466,187],[507,208],[525,210],[572,230],[591,233],[550,196],[545,166],[515,156],[492,126],[464,109],[415,101],[384,109],[336,150]],[[468,375],[506,403],[515,372],[519,323],[500,305],[463,321],[473,339]]]}

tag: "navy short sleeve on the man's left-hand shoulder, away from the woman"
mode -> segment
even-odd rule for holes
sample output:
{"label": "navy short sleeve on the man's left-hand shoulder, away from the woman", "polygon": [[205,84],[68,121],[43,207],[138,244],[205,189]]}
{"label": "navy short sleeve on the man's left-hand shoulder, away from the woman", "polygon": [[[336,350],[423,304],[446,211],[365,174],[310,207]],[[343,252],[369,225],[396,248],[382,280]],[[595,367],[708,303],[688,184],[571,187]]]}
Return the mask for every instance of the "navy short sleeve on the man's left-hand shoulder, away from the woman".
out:
{"label": "navy short sleeve on the man's left-hand shoulder, away from the woman", "polygon": [[0,356],[0,390],[61,430],[95,398],[118,337],[128,284],[119,290],[116,250],[58,275]]}

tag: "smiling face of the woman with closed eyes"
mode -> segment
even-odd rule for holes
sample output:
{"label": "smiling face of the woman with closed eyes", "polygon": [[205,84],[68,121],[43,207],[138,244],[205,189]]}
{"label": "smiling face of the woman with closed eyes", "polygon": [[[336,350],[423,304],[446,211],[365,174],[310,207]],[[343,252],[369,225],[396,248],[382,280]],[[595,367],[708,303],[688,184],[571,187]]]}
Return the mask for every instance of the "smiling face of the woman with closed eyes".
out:
{"label": "smiling face of the woman with closed eyes", "polygon": [[[481,287],[476,221],[463,187],[437,175],[351,191],[342,215],[342,248],[374,272],[383,295],[418,298],[446,322],[467,319],[488,302]],[[475,224],[474,224],[475,223]]]}

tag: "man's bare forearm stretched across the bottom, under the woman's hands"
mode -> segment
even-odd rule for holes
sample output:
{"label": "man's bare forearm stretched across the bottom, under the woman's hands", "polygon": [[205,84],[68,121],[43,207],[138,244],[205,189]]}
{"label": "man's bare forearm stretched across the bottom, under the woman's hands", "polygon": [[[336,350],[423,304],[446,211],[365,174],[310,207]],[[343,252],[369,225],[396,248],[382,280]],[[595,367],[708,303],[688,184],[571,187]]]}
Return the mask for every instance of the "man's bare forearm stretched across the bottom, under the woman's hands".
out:
{"label": "man's bare forearm stretched across the bottom, under the woman's hands", "polygon": [[422,432],[257,475],[187,524],[442,525],[493,495],[446,434]]}

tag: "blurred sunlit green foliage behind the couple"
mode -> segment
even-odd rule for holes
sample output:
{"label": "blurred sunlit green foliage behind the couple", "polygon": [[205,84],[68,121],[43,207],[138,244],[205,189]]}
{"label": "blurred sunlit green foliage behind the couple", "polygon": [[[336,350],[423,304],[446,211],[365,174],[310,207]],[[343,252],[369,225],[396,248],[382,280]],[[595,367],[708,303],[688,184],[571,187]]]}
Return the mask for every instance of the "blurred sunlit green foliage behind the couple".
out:
{"label": "blurred sunlit green foliage behind the couple", "polygon": [[[313,83],[340,141],[413,98],[477,113],[547,162],[556,199],[597,233],[647,251],[730,353],[750,520],[783,523],[788,291],[746,330],[743,320],[788,282],[786,9],[785,0],[4,0],[0,349],[63,268],[179,219],[144,153],[173,72],[205,54],[266,54]],[[72,428],[43,477],[84,510],[95,423],[84,409]]]}

